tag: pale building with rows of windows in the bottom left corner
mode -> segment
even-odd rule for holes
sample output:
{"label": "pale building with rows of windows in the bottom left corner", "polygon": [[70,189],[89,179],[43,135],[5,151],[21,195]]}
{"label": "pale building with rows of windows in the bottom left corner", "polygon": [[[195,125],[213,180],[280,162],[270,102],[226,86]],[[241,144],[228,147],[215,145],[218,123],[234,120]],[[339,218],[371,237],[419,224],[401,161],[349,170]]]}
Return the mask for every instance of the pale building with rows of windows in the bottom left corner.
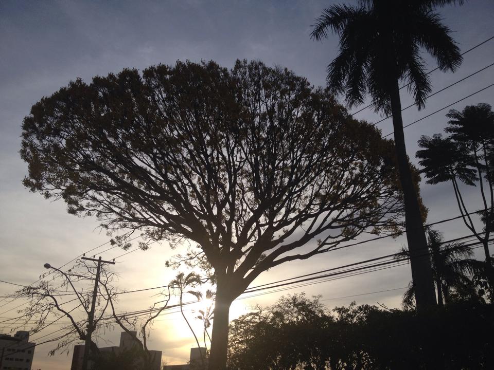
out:
{"label": "pale building with rows of windows in the bottom left corner", "polygon": [[31,370],[35,346],[29,342],[28,331],[0,334],[0,370]]}

